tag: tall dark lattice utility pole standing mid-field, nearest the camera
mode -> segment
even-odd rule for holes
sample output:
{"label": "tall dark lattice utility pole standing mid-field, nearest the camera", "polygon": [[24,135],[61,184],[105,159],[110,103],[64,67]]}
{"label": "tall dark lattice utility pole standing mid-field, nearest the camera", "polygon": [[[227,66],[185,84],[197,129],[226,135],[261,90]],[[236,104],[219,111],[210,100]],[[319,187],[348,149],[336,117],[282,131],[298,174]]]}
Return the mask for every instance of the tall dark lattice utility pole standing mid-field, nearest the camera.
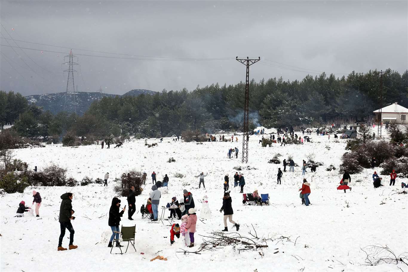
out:
{"label": "tall dark lattice utility pole standing mid-field, nearest the camera", "polygon": [[259,62],[261,57],[258,59],[239,59],[236,57],[236,60],[246,65],[246,79],[245,79],[245,104],[244,104],[244,129],[242,137],[242,162],[248,163],[248,142],[249,142],[249,66],[255,62]]}

